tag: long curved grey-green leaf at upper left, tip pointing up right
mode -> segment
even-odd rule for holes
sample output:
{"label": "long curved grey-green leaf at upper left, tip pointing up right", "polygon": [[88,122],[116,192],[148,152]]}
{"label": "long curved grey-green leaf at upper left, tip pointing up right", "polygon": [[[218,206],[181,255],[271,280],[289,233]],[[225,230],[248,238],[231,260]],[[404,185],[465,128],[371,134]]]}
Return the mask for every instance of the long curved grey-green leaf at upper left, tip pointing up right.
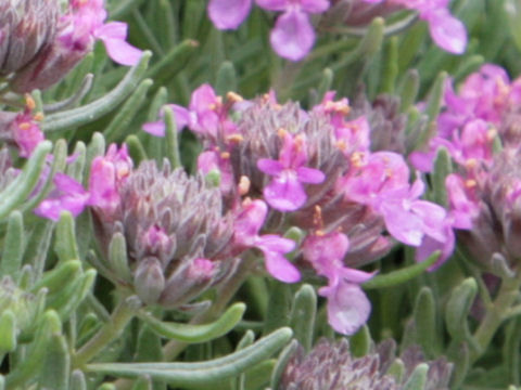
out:
{"label": "long curved grey-green leaf at upper left, tip pointing up right", "polygon": [[149,51],[145,51],[139,64],[134,66],[117,87],[103,98],[78,108],[47,116],[41,123],[41,129],[45,132],[71,130],[112,112],[136,90],[147,70],[151,55]]}

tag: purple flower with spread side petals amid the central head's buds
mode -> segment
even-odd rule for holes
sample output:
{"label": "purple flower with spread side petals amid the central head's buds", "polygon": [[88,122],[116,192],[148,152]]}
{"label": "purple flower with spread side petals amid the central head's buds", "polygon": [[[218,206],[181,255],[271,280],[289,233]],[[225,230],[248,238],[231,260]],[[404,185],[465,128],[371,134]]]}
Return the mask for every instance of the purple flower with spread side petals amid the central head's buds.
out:
{"label": "purple flower with spread side petals amid the central head's buds", "polygon": [[307,168],[305,139],[302,134],[293,136],[281,131],[282,148],[279,159],[260,158],[257,168],[275,177],[265,188],[264,197],[272,208],[280,211],[294,211],[307,199],[302,183],[321,183],[326,176],[318,169]]}

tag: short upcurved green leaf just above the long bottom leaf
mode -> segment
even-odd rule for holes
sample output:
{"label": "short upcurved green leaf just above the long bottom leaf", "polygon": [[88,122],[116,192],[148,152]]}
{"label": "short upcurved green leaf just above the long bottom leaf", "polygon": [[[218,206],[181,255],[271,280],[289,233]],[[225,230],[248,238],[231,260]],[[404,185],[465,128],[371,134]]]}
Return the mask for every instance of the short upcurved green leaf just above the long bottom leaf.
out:
{"label": "short upcurved green leaf just above the long bottom leaf", "polygon": [[140,313],[139,316],[151,329],[163,337],[186,342],[205,342],[233,329],[245,310],[244,303],[234,303],[217,321],[203,325],[163,322],[145,313]]}

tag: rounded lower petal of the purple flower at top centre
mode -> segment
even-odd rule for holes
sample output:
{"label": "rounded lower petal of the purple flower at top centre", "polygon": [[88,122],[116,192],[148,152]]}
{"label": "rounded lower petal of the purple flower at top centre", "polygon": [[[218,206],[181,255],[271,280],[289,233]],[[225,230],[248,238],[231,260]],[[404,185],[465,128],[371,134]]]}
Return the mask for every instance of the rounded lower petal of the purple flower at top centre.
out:
{"label": "rounded lower petal of the purple flower at top centre", "polygon": [[275,52],[283,58],[304,58],[315,42],[315,31],[307,14],[291,10],[280,15],[271,30],[270,42]]}

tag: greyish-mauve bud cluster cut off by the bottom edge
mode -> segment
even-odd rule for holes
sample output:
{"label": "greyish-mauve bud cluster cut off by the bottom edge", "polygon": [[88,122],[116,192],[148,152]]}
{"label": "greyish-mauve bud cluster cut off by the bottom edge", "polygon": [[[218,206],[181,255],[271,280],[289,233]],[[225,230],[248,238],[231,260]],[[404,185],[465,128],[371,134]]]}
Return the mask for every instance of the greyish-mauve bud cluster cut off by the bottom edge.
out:
{"label": "greyish-mauve bud cluster cut off by the bottom edge", "polygon": [[[409,347],[395,356],[393,340],[380,343],[376,351],[354,358],[345,339],[336,343],[322,339],[305,355],[300,347],[282,374],[278,390],[399,390],[420,364],[428,365],[423,390],[446,390],[452,364],[444,358],[427,361],[419,347]],[[404,367],[403,373],[390,373],[393,363]],[[401,375],[402,374],[402,375]],[[419,388],[420,389],[420,388]]]}

